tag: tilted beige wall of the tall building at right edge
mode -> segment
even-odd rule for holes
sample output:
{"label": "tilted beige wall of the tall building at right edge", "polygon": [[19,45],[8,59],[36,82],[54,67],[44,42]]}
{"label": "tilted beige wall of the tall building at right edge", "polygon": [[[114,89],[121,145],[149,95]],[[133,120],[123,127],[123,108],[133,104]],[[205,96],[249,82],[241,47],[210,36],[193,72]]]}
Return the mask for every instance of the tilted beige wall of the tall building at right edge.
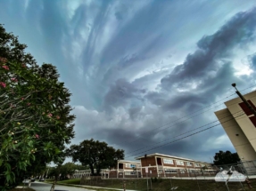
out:
{"label": "tilted beige wall of the tall building at right edge", "polygon": [[[256,92],[244,95],[256,103]],[[231,99],[225,103],[227,108],[215,112],[242,161],[256,160],[256,117],[246,107],[242,99]],[[245,113],[244,115],[241,115]],[[241,115],[241,116],[239,116]]]}

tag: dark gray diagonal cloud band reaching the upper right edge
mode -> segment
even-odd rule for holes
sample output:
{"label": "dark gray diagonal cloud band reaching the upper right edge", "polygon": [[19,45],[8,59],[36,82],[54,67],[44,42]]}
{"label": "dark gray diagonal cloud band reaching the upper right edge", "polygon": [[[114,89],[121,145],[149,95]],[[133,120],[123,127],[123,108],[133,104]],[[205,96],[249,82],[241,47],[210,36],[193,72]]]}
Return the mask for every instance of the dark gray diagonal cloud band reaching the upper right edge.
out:
{"label": "dark gray diagonal cloud band reaching the upper right edge", "polygon": [[164,89],[185,87],[203,80],[219,68],[219,61],[227,59],[235,46],[248,44],[255,37],[256,8],[239,12],[212,36],[204,36],[198,42],[198,50],[186,57],[184,64],[177,66],[169,76],[161,79]]}

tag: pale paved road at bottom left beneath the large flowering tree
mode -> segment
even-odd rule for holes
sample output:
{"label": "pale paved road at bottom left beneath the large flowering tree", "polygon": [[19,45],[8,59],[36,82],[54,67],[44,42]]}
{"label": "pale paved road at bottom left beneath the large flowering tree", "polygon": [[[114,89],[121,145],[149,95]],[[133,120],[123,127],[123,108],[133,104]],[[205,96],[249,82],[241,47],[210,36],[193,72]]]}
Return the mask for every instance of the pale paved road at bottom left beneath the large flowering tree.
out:
{"label": "pale paved road at bottom left beneath the large flowering tree", "polygon": [[[52,184],[48,184],[45,182],[32,182],[31,188],[35,189],[36,191],[50,191],[52,187]],[[87,191],[88,189],[85,188],[79,188],[79,187],[66,187],[66,186],[60,186],[55,185],[55,190],[62,190],[62,191]],[[91,190],[90,190],[91,191]]]}

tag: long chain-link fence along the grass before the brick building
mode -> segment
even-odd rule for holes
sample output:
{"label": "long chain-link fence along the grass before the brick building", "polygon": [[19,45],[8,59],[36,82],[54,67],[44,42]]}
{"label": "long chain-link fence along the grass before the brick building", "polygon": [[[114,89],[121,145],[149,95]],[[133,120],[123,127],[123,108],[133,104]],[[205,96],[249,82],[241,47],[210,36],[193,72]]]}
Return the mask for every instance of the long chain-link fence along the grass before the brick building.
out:
{"label": "long chain-link fence along the grass before the brick building", "polygon": [[[140,171],[117,174],[117,171],[110,171],[107,177],[83,176],[80,184],[94,187],[113,187],[133,190],[248,190],[256,187],[256,161],[245,161],[240,163],[230,163],[214,165],[211,170],[200,171],[175,171],[162,173],[141,173]],[[227,174],[231,171],[230,174]],[[152,171],[153,172],[153,171]],[[222,174],[219,181],[216,177]],[[240,173],[237,175],[237,173]],[[236,174],[235,174],[236,173]],[[243,174],[244,179],[239,176]],[[242,175],[241,175],[242,176]],[[117,179],[118,177],[118,179]],[[237,179],[234,181],[234,178]],[[251,190],[254,190],[254,189]],[[256,189],[255,189],[256,190]]]}

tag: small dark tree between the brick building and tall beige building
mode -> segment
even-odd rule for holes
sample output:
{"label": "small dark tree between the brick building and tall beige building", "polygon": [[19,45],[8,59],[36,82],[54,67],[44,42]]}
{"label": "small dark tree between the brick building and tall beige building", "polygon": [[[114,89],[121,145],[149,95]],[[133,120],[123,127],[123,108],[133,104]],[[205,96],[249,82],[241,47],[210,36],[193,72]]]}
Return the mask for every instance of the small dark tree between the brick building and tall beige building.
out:
{"label": "small dark tree between the brick building and tall beige building", "polygon": [[223,152],[222,150],[219,153],[216,153],[214,156],[213,163],[215,165],[229,164],[229,163],[237,163],[240,161],[237,153],[231,153],[230,151]]}

